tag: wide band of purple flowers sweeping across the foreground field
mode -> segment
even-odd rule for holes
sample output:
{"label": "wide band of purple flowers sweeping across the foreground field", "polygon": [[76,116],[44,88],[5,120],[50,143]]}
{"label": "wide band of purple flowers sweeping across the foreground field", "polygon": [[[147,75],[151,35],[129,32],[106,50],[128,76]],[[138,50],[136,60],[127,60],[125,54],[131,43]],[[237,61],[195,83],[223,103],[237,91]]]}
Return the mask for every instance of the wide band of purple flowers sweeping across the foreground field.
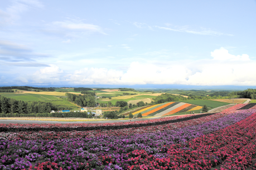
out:
{"label": "wide band of purple flowers sweeping across the foreground field", "polygon": [[[180,159],[170,159],[180,154],[179,152],[175,154],[168,153],[172,152],[172,149],[170,149],[173,146],[172,144],[175,144],[177,149],[181,149],[179,146],[186,149],[189,147],[186,146],[187,140],[227,127],[248,117],[249,114],[251,112],[240,111],[197,126],[180,128],[175,131],[166,129],[166,131],[149,132],[134,136],[97,136],[13,142],[2,140],[0,141],[0,150],[4,152],[0,152],[0,162],[9,160],[2,167],[10,168],[16,166],[17,159],[18,166],[28,169],[31,167],[31,163],[26,162],[23,157],[30,155],[30,153],[40,153],[42,157],[45,157],[44,162],[36,163],[36,167],[31,167],[31,169],[41,167],[45,162],[56,169],[139,169],[139,166],[151,167],[151,169],[163,169],[164,167],[166,169],[166,166],[171,168],[173,161],[176,163],[184,160],[182,157]],[[187,154],[187,156],[190,155]],[[193,161],[194,157],[190,159]],[[57,164],[52,165],[52,162]],[[162,164],[166,166],[162,166]]]}

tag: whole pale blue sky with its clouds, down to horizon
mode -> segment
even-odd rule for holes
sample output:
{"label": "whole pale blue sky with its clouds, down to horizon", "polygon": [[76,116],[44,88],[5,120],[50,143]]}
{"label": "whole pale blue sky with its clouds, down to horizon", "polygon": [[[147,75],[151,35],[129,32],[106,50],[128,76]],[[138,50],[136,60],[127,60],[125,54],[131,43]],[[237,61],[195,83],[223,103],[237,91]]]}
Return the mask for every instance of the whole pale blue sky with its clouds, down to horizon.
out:
{"label": "whole pale blue sky with its clouds, down to horizon", "polygon": [[0,86],[256,86],[253,0],[0,4]]}

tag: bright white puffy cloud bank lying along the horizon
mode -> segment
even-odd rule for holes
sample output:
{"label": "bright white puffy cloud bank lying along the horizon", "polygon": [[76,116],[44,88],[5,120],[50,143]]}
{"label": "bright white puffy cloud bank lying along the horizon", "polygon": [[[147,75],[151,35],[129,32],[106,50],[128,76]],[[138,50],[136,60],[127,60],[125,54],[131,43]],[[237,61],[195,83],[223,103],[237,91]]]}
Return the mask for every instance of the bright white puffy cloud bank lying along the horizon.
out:
{"label": "bright white puffy cloud bank lying along the horizon", "polygon": [[165,65],[132,62],[126,72],[107,68],[83,68],[69,74],[51,65],[35,73],[33,83],[69,84],[186,84],[202,86],[254,86],[256,62],[247,54],[235,56],[221,47],[211,59],[168,62]]}

